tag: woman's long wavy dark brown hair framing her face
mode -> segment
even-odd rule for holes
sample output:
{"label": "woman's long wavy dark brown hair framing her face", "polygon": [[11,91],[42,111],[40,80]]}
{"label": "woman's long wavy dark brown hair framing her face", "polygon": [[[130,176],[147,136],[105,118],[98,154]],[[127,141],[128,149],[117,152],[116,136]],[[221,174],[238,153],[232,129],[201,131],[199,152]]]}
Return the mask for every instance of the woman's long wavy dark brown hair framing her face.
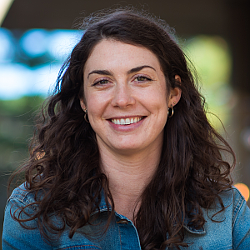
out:
{"label": "woman's long wavy dark brown hair framing her face", "polygon": [[[182,90],[175,113],[165,125],[160,163],[141,196],[135,225],[144,250],[188,246],[184,242],[184,218],[189,217],[198,229],[205,224],[202,209],[210,208],[215,201],[219,201],[221,211],[225,209],[220,193],[232,185],[234,153],[207,120],[205,101],[188,60],[164,21],[134,9],[122,9],[92,15],[82,28],[83,36],[62,67],[55,92],[43,108],[30,159],[19,170],[25,172],[28,190],[43,193],[35,202],[39,209],[27,220],[38,219],[43,233],[44,228],[60,233],[69,226],[69,237],[73,237],[99,208],[101,192],[106,203],[111,203],[107,223],[114,216],[108,179],[100,170],[95,132],[84,120],[80,106],[86,61],[96,44],[114,39],[152,51],[159,59],[167,89]],[[181,77],[181,84],[175,75]],[[224,160],[224,153],[231,154],[232,166]],[[25,212],[24,208],[13,216],[22,223],[20,212]],[[53,224],[51,214],[62,219],[60,227]]]}

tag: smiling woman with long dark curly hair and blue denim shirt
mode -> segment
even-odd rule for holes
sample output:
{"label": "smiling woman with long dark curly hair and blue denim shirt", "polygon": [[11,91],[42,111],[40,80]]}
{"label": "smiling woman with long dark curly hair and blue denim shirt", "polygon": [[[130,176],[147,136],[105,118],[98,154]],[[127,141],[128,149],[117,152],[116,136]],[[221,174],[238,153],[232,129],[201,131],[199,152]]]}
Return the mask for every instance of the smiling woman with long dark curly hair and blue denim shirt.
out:
{"label": "smiling woman with long dark curly hair and blue denim shirt", "polygon": [[3,249],[247,249],[249,208],[222,157],[234,154],[169,28],[134,10],[86,24],[8,201]]}

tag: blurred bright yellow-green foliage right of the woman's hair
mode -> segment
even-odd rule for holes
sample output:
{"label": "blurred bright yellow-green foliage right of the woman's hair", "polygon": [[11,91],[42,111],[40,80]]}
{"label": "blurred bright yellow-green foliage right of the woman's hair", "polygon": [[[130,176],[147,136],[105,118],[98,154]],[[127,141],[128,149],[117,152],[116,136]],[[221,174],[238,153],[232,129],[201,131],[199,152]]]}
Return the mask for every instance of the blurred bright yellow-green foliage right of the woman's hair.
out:
{"label": "blurred bright yellow-green foliage right of the woman's hair", "polygon": [[[208,112],[215,114],[227,124],[233,96],[229,85],[232,60],[226,41],[218,36],[195,36],[187,40],[184,50],[199,75],[201,92],[206,98]],[[208,113],[209,120],[216,129],[220,129],[219,119],[211,113]]]}

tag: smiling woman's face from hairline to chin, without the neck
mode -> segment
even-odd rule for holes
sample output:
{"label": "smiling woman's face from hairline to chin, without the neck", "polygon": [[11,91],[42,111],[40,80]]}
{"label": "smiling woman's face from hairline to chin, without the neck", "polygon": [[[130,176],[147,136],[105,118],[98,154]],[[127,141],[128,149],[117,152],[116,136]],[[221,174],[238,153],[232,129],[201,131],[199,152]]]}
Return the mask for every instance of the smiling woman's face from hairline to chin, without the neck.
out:
{"label": "smiling woman's face from hairline to chin, without the neck", "polygon": [[100,150],[133,154],[162,146],[168,106],[164,74],[148,49],[102,40],[84,67],[84,101]]}

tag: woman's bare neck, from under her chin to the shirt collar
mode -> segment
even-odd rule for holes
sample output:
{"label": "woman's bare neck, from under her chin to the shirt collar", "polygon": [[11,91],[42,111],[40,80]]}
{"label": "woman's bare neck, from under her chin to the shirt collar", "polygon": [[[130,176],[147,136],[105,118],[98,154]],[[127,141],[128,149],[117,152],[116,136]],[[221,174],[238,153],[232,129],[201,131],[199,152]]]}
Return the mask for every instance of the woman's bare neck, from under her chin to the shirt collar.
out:
{"label": "woman's bare neck, from under her chin to the shirt collar", "polygon": [[151,181],[160,160],[161,150],[134,155],[118,155],[100,150],[102,171],[109,180],[115,211],[133,220],[140,198]]}

